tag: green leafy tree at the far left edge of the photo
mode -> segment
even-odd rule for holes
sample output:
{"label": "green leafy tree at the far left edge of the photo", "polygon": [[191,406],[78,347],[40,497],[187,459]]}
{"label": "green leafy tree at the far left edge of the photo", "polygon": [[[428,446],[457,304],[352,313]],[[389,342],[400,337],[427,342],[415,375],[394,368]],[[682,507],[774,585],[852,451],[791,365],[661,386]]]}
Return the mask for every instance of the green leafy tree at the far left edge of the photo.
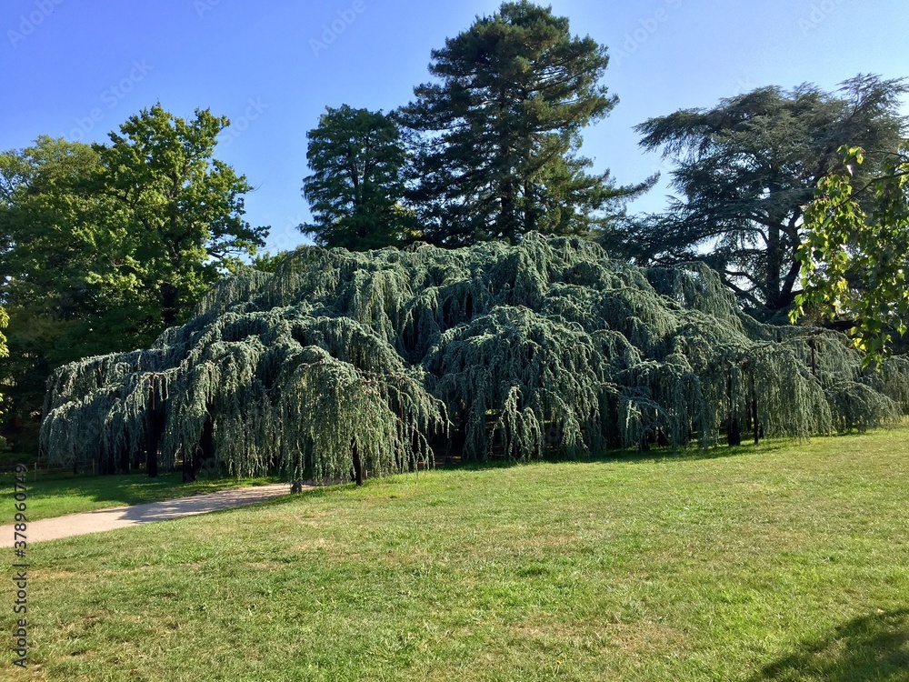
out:
{"label": "green leafy tree at the far left edge of the photo", "polygon": [[104,297],[87,281],[100,259],[94,218],[115,213],[95,192],[101,171],[89,145],[46,136],[0,155],[0,296],[11,351],[0,360],[0,378],[20,424],[41,406],[53,366],[106,350],[85,345],[83,334]]}

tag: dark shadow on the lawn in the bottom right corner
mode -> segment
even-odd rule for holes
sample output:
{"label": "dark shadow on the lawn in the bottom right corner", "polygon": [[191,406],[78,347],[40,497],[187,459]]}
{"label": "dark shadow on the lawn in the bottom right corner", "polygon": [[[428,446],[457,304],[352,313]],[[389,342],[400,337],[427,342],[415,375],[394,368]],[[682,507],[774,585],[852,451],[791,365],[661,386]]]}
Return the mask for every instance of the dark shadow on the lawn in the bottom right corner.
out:
{"label": "dark shadow on the lawn in the bottom right corner", "polygon": [[909,680],[909,608],[853,618],[829,637],[803,642],[749,682]]}

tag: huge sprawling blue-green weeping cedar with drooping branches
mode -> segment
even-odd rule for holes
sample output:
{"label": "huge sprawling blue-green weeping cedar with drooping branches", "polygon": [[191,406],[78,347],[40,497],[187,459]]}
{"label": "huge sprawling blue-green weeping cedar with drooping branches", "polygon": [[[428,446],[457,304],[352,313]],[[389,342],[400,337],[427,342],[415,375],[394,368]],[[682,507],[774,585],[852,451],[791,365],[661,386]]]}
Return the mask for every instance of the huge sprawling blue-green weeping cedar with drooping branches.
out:
{"label": "huge sprawling blue-green weeping cedar with drooping branches", "polygon": [[907,377],[900,358],[864,372],[832,331],[755,322],[703,266],[630,266],[577,237],[301,247],[152,348],[61,367],[42,442],[108,470],[147,450],[150,469],[381,475],[434,446],[484,460],[864,428],[909,409]]}

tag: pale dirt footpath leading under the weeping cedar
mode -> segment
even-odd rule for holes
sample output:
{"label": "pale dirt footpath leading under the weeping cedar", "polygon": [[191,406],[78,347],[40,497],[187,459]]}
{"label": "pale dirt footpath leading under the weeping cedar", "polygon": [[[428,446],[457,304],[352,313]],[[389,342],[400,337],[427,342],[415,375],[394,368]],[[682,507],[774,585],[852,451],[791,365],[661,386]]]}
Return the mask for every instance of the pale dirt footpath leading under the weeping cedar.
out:
{"label": "pale dirt footpath leading under the weeping cedar", "polygon": [[[304,486],[304,489],[309,486]],[[253,486],[219,490],[216,493],[179,497],[162,502],[148,502],[144,505],[117,506],[111,509],[96,509],[91,512],[69,514],[65,517],[43,518],[30,521],[26,536],[28,544],[55,540],[59,537],[81,536],[86,533],[100,533],[114,528],[137,526],[169,518],[192,517],[208,514],[218,509],[252,505],[255,502],[274,499],[290,494],[290,485],[274,483],[269,486]],[[0,547],[13,547],[13,525],[0,527]]]}

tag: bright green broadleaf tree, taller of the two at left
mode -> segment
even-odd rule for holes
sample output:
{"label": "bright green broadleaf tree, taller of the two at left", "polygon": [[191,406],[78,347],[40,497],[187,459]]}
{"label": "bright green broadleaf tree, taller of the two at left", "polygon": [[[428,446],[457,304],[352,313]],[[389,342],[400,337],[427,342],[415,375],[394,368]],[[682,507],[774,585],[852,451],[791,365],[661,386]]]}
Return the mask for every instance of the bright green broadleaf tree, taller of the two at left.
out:
{"label": "bright green broadleaf tree, taller of the two at left", "polygon": [[243,219],[252,187],[214,157],[229,124],[207,109],[185,121],[155,105],[95,146],[104,167],[99,190],[115,199],[119,220],[102,235],[114,257],[89,279],[132,297],[141,306],[134,316],[153,334],[185,319],[225,268],[265,244],[265,228]]}

